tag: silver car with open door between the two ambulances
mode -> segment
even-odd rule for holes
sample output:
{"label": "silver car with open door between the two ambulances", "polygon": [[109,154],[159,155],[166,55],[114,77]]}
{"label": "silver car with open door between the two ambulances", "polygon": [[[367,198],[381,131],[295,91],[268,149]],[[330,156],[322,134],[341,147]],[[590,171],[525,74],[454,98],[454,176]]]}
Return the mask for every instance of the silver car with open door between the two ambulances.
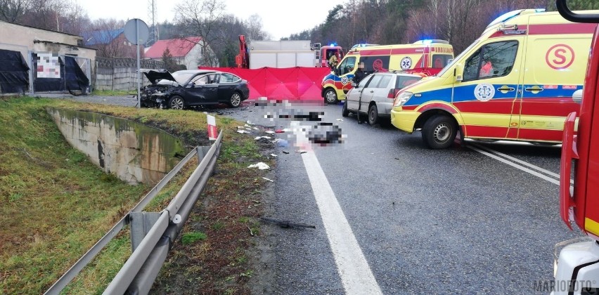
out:
{"label": "silver car with open door between the two ambulances", "polygon": [[[420,81],[419,74],[407,72],[375,72],[364,77],[354,88],[350,89],[343,104],[343,117],[349,113],[365,116],[368,124],[374,125],[381,118],[389,121],[393,100],[402,88]],[[367,116],[367,117],[366,117]],[[361,119],[361,118],[359,118]]]}

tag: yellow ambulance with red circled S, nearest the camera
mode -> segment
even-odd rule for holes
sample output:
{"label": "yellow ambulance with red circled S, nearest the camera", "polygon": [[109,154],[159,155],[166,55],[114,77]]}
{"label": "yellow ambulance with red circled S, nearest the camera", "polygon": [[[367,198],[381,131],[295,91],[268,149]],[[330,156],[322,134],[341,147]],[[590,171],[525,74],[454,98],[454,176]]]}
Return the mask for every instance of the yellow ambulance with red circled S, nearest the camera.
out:
{"label": "yellow ambulance with red circled S, nearest the camera", "polygon": [[397,94],[391,121],[433,149],[461,138],[561,143],[579,109],[593,26],[557,12],[505,13],[444,68]]}

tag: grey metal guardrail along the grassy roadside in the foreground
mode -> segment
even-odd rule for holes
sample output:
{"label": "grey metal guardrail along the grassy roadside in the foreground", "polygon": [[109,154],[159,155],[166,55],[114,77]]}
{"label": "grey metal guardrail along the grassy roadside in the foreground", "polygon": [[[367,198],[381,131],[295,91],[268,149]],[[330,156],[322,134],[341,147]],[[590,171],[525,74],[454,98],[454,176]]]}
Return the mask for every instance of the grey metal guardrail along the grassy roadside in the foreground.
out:
{"label": "grey metal guardrail along the grassy roadside in the foreground", "polygon": [[[195,147],[179,162],[136,206],[123,216],[82,258],[79,258],[67,272],[46,291],[45,294],[59,294],[81,270],[100,253],[100,251],[115,237],[124,225],[131,222],[131,215],[141,212],[162,188],[178,173],[181,168],[194,156],[198,156],[198,167],[193,171],[181,190],[172,199],[166,209],[160,212],[157,221],[147,232],[143,240],[135,247],[121,270],[112,279],[104,294],[147,294],[165,262],[167,253],[187,221],[191,209],[204,190],[217,164],[223,133],[210,147]],[[134,228],[131,228],[131,232]],[[133,241],[132,241],[133,242]]]}

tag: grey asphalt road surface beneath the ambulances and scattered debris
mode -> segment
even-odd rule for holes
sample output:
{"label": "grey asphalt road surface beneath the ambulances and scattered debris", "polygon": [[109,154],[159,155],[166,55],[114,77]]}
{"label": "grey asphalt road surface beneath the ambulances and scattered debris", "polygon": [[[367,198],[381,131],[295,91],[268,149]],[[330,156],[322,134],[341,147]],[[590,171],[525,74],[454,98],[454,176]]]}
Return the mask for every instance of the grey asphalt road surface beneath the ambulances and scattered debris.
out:
{"label": "grey asphalt road surface beneath the ambulances and scattered debris", "polygon": [[[133,98],[65,97],[136,103]],[[468,142],[428,150],[418,132],[357,124],[354,115],[342,118],[341,108],[245,103],[216,111],[307,133],[318,122],[264,116],[323,112],[322,122],[339,126],[344,135],[343,143],[315,146],[298,132],[289,138],[290,132],[278,134],[290,142],[278,148],[266,215],[316,228],[264,227],[263,263],[273,284],[262,291],[345,293],[345,273],[337,267],[305,155],[297,152],[301,149],[316,155],[383,294],[537,294],[535,284],[553,279],[554,245],[581,236],[559,216],[559,146]]]}

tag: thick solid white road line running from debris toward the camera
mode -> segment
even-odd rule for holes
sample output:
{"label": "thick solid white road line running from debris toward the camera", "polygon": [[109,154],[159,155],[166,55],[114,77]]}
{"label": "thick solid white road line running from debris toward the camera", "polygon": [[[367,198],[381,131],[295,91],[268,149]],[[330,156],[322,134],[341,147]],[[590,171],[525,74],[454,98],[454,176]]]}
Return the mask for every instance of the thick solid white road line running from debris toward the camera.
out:
{"label": "thick solid white road line running from debris toward the camera", "polygon": [[313,151],[302,154],[346,294],[382,294]]}

